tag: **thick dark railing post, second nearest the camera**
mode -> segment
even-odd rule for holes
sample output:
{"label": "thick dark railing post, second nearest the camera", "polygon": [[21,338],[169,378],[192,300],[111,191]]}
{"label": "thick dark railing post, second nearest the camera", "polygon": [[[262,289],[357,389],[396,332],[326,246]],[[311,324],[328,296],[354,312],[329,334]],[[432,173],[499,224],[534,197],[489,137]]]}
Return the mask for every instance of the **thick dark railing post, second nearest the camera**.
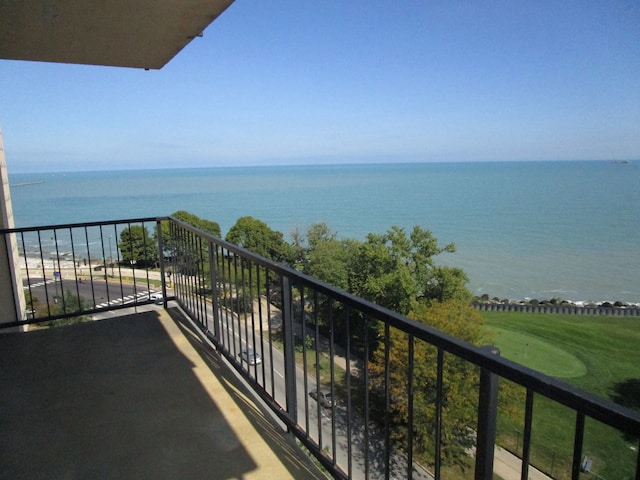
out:
{"label": "thick dark railing post, second nearest the camera", "polygon": [[291,298],[291,282],[282,277],[282,328],[284,333],[284,381],[286,405],[289,418],[298,423],[298,402],[296,398],[296,349]]}

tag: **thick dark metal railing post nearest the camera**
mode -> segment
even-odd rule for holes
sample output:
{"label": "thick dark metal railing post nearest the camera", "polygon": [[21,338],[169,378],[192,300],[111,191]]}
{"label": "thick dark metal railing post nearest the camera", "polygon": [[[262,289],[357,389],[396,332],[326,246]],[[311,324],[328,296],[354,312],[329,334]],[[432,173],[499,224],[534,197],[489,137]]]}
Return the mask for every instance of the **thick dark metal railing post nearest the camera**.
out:
{"label": "thick dark metal railing post nearest the camera", "polygon": [[[485,348],[494,355],[500,355],[500,350],[497,347]],[[480,369],[475,480],[491,480],[493,478],[493,456],[498,419],[498,381],[499,377],[496,374],[486,368]]]}

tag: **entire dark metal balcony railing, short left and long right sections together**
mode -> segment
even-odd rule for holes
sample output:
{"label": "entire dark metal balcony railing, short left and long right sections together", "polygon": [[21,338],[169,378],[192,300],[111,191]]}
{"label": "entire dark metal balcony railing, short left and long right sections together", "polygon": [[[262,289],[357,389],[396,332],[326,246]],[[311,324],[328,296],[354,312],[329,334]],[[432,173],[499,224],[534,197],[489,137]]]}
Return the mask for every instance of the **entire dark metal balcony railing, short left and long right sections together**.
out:
{"label": "entire dark metal balcony railing, short left and long right sections together", "polygon": [[[125,266],[133,266],[134,249],[123,243],[122,232],[151,225],[157,262],[130,272]],[[125,288],[133,289],[132,304],[150,303],[159,282],[165,305],[174,299],[188,313],[335,478],[490,479],[501,461],[515,465],[521,479],[535,466],[549,478],[640,480],[635,412],[172,218],[2,232],[17,235],[22,245],[25,292],[32,299],[42,298],[38,288],[44,298],[55,288],[55,272],[63,271],[58,246],[67,231],[75,267],[57,285],[78,296],[80,285],[91,285],[80,313],[129,306],[122,300]],[[83,237],[81,255],[76,232]],[[118,239],[118,249],[107,256],[109,236]],[[49,245],[43,238],[55,245],[51,267],[44,266],[46,255],[38,259],[29,247],[42,252]],[[85,258],[88,268],[78,274]],[[33,272],[43,286],[31,286]],[[115,303],[95,296],[102,283],[100,291],[108,298],[113,292]],[[32,301],[33,318],[16,324],[78,313],[62,307],[63,313],[53,307],[45,313]],[[570,441],[541,439],[545,425],[568,431]],[[607,463],[612,438],[626,449],[615,465]]]}

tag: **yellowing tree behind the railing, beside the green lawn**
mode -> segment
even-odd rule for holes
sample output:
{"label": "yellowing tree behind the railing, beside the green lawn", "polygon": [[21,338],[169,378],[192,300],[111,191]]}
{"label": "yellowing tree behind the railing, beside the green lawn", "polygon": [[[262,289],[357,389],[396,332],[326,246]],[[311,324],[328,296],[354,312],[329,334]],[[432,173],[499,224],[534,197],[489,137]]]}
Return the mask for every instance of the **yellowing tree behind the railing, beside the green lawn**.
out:
{"label": "yellowing tree behind the railing, beside the green lawn", "polygon": [[[482,340],[482,319],[468,304],[449,300],[418,304],[409,317],[446,332],[467,342],[478,344]],[[391,407],[389,411],[394,438],[407,438],[408,402],[408,345],[407,334],[390,330],[389,376]],[[437,349],[425,342],[414,342],[413,357],[413,435],[417,454],[433,458],[436,431]],[[369,389],[374,407],[384,418],[386,401],[385,344],[381,343],[369,363],[371,382]],[[462,464],[467,451],[474,444],[471,434],[476,426],[478,369],[471,363],[453,355],[445,355],[443,385],[442,455],[449,464]]]}

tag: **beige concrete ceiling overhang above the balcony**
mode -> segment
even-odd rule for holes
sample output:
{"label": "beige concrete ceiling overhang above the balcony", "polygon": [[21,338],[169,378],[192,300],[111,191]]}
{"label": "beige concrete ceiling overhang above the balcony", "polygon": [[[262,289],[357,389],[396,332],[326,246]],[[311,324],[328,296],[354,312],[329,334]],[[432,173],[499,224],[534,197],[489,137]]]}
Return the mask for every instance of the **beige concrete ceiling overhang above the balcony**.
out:
{"label": "beige concrete ceiling overhang above the balcony", "polygon": [[162,68],[233,0],[3,0],[0,58]]}

